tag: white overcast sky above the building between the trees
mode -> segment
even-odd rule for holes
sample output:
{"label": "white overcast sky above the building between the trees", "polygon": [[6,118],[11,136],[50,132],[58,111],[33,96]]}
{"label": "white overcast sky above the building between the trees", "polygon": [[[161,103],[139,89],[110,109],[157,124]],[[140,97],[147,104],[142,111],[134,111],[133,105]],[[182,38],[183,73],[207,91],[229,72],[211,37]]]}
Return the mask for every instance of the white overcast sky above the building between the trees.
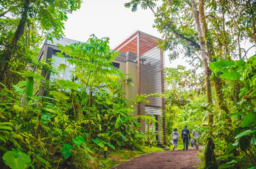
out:
{"label": "white overcast sky above the building between the trees", "polygon": [[[66,38],[86,42],[91,34],[98,38],[109,37],[110,48],[113,49],[135,30],[162,38],[153,28],[154,14],[150,9],[138,7],[136,12],[124,7],[129,0],[84,0],[81,8],[68,15],[65,23]],[[169,63],[165,58],[166,67],[176,67],[177,64],[189,67],[182,58]]]}

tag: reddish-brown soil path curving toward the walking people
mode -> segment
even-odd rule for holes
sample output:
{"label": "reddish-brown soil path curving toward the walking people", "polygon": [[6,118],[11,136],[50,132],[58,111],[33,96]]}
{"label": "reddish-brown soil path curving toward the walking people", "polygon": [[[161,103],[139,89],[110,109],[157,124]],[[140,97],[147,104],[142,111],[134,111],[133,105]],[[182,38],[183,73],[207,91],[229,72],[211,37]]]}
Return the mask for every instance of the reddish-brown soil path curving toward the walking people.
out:
{"label": "reddish-brown soil path curving toward the walking people", "polygon": [[[203,146],[199,146],[199,149]],[[169,150],[162,152],[154,152],[150,154],[141,155],[125,163],[121,163],[112,169],[141,169],[141,168],[198,168],[201,160],[197,157],[198,150]]]}

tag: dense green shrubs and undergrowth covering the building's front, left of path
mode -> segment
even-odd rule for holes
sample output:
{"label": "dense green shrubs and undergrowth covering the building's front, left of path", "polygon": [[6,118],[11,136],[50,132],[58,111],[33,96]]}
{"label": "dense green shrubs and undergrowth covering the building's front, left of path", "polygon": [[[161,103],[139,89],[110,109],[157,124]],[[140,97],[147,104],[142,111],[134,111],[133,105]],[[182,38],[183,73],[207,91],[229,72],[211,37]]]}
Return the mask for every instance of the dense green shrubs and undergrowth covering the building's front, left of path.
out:
{"label": "dense green shrubs and undergrowth covering the building's front, left of path", "polygon": [[[108,38],[92,35],[87,43],[60,45],[61,52],[70,56],[67,62],[75,65],[72,74],[76,82],[48,81],[23,70],[16,73],[27,80],[13,84],[14,90],[1,83],[0,146],[6,165],[10,164],[9,156],[16,158],[17,164],[26,156],[29,160],[20,165],[38,168],[68,166],[76,153],[94,161],[93,156],[100,156],[106,146],[140,149],[144,136],[131,112],[138,102],[148,101],[146,96],[137,95],[130,105],[124,98],[122,84],[126,75],[112,66],[118,53],[111,51],[108,43]],[[61,53],[58,56],[64,57]],[[49,74],[55,74],[52,66],[42,61],[40,64]],[[58,70],[65,71],[66,67],[60,64]],[[35,95],[37,85],[45,95]]]}

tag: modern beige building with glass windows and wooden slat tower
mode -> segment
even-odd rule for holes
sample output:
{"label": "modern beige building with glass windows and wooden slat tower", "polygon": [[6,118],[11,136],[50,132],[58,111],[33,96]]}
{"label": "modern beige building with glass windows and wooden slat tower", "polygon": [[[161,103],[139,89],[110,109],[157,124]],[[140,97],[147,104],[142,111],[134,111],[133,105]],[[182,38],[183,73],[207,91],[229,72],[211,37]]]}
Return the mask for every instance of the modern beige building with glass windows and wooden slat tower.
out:
{"label": "modern beige building with glass windows and wooden slat tower", "polygon": [[[161,41],[161,39],[141,31],[135,31],[114,48],[120,54],[113,61],[113,66],[122,70],[124,74],[132,74],[129,77],[132,78],[130,82],[134,86],[128,83],[123,84],[126,98],[135,100],[136,94],[164,92],[164,56],[162,51],[157,48],[157,41]],[[58,67],[60,63],[65,62],[63,60],[65,58],[56,55],[57,52],[60,52],[57,44],[70,45],[76,42],[79,41],[68,38],[54,39],[53,43],[45,40],[37,60],[54,58],[54,67]],[[68,70],[72,70],[72,68],[72,65],[70,65]],[[65,71],[64,75],[60,74],[60,77],[70,78],[71,73],[68,70]],[[42,72],[42,76],[45,76],[44,72]],[[48,79],[59,79],[60,77],[52,76]],[[149,115],[155,118],[158,123],[139,120],[142,124],[141,130],[143,133],[151,135],[159,143],[167,143],[165,116],[163,114],[165,101],[162,97],[155,96],[147,98],[147,100],[150,103],[138,104],[133,115]]]}

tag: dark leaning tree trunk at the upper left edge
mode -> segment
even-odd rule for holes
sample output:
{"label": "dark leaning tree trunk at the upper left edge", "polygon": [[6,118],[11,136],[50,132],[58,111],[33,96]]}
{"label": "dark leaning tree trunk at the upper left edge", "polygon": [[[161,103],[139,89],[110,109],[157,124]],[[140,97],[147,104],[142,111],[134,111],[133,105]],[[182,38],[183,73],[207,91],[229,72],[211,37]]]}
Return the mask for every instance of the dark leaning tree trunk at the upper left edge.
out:
{"label": "dark leaning tree trunk at the upper left edge", "polygon": [[25,25],[27,22],[27,16],[28,16],[28,10],[29,10],[29,1],[26,0],[24,5],[23,5],[23,11],[21,13],[21,19],[19,22],[19,25],[17,27],[17,30],[14,34],[14,37],[12,41],[7,44],[5,51],[3,53],[3,56],[1,57],[1,70],[0,74],[0,81],[3,84],[6,84],[8,88],[10,88],[10,61],[12,60],[13,54],[16,52],[16,47],[17,47],[17,42],[19,41],[20,37],[24,33]]}

